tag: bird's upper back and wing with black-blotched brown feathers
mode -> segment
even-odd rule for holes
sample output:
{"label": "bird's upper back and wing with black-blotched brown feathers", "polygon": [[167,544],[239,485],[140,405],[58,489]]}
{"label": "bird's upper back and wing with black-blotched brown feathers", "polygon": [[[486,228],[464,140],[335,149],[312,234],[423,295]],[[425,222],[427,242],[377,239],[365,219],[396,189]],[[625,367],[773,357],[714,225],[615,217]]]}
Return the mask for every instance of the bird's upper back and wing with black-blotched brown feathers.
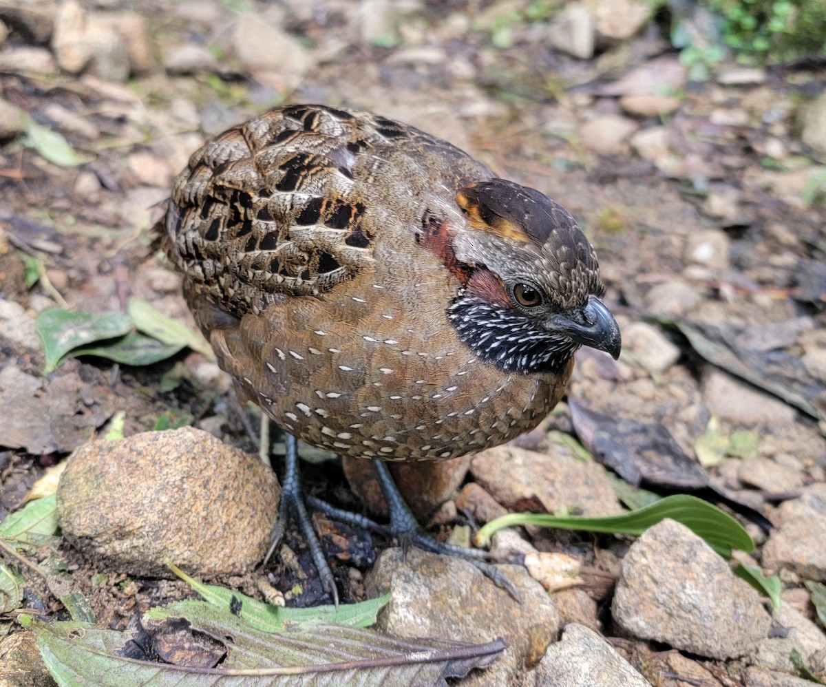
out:
{"label": "bird's upper back and wing with black-blotched brown feathers", "polygon": [[277,108],[192,155],[166,244],[192,290],[257,311],[273,294],[324,294],[388,250],[415,259],[423,223],[461,220],[459,189],[491,176],[453,145],[381,116]]}

